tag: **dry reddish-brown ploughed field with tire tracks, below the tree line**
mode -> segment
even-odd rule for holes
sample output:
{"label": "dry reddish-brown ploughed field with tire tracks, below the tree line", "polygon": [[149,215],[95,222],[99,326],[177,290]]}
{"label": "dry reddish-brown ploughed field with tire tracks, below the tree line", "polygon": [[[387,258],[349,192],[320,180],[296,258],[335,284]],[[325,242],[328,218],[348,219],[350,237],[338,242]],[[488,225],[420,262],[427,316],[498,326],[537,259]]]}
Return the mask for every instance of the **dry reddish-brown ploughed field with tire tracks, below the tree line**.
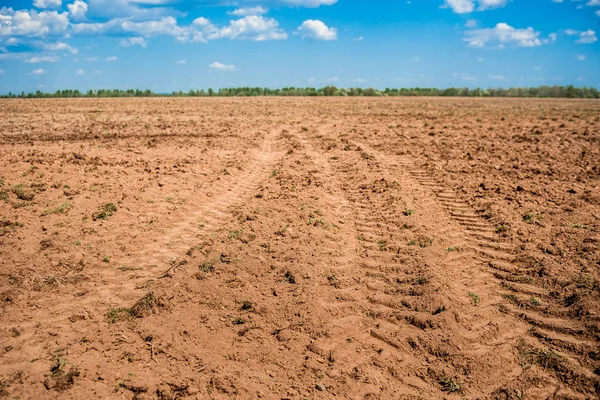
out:
{"label": "dry reddish-brown ploughed field with tire tracks, below the tree line", "polygon": [[0,116],[0,397],[599,396],[598,101]]}

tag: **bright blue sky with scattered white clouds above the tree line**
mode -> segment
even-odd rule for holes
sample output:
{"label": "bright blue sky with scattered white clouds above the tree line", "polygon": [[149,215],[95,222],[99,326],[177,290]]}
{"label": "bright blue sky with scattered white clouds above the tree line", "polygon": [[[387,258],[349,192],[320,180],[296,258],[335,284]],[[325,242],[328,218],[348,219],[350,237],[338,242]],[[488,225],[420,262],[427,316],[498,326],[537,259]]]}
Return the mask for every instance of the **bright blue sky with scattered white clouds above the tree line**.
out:
{"label": "bright blue sky with scattered white clouds above the tree line", "polygon": [[600,87],[600,0],[3,0],[0,93]]}

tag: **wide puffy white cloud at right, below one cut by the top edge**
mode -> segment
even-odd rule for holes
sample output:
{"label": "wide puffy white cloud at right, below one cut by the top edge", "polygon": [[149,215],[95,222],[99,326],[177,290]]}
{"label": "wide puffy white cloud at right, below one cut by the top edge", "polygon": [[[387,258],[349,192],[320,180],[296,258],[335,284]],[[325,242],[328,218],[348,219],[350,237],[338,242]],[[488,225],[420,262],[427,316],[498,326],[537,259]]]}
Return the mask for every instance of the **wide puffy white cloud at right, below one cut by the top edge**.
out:
{"label": "wide puffy white cloud at right, below one cut by the top edge", "polygon": [[545,43],[539,38],[540,33],[533,28],[516,29],[504,22],[498,23],[494,28],[466,31],[465,36],[463,40],[472,47],[484,47],[488,43],[497,43],[499,47],[505,45],[536,47]]}

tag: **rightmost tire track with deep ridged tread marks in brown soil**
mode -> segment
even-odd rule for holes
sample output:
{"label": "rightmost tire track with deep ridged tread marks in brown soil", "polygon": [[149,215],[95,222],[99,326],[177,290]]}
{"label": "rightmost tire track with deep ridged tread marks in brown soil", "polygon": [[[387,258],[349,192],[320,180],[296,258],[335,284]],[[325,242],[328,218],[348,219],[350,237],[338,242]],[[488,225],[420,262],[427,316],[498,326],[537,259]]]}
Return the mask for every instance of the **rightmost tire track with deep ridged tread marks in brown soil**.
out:
{"label": "rightmost tire track with deep ridged tread marks in brown soil", "polygon": [[[370,151],[375,152],[373,149]],[[377,154],[386,159],[381,153]],[[473,253],[478,263],[491,271],[500,283],[499,293],[504,300],[502,310],[530,325],[527,335],[546,348],[540,351],[547,352],[549,349],[554,352],[545,353],[545,357],[554,357],[553,369],[558,377],[571,387],[583,389],[583,393],[599,394],[600,337],[590,335],[585,326],[566,315],[565,318],[559,313],[547,315],[548,311],[542,304],[553,301],[552,295],[540,286],[525,283],[532,280],[533,271],[531,267],[519,266],[516,246],[498,235],[497,228],[453,190],[443,187],[430,172],[416,167],[410,158],[400,156],[395,163],[408,170],[416,182],[427,187],[448,215],[463,227],[468,238],[464,248]]]}

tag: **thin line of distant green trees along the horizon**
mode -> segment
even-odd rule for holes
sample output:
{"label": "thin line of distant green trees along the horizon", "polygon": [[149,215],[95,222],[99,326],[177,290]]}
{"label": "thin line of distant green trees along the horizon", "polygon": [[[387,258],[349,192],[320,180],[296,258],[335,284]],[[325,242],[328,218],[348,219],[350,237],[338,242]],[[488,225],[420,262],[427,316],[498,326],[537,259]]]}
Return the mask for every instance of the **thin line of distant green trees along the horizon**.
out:
{"label": "thin line of distant green trees along the horizon", "polygon": [[403,88],[378,90],[373,88],[337,88],[325,86],[323,88],[297,88],[285,87],[283,89],[270,89],[261,87],[236,87],[221,88],[218,90],[190,90],[189,92],[173,92],[171,94],[154,93],[151,90],[57,90],[54,93],[20,94],[8,93],[1,98],[71,98],[71,97],[257,97],[257,96],[448,96],[448,97],[564,97],[564,98],[600,98],[600,92],[593,87],[569,86],[538,86],[509,89],[469,89],[469,88]]}

